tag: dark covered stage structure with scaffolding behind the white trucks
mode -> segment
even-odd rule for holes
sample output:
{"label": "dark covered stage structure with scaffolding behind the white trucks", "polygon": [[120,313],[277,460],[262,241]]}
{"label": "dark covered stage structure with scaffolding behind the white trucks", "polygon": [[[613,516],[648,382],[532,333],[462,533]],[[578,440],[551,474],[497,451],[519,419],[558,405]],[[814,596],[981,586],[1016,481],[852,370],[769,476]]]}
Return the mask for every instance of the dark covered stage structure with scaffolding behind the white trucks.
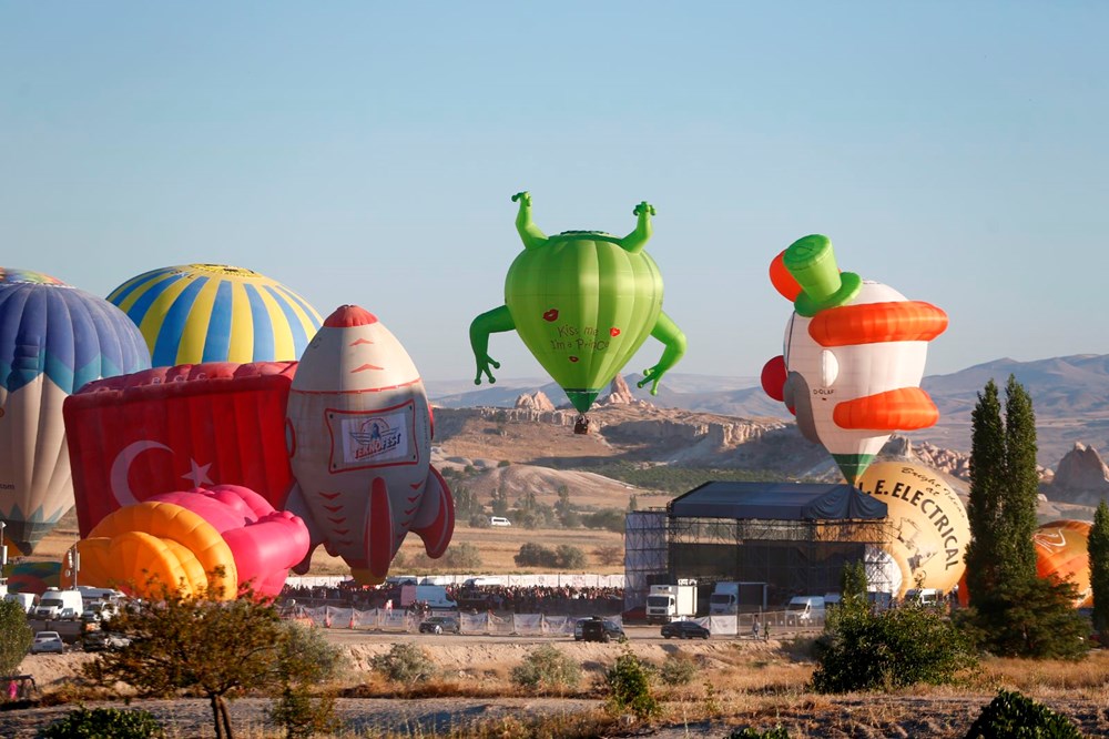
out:
{"label": "dark covered stage structure with scaffolding behind the white trucks", "polygon": [[705,597],[718,581],[765,583],[773,607],[838,591],[852,561],[864,563],[871,590],[901,585],[885,553],[886,504],[851,485],[710,482],[665,510],[629,513],[625,534],[624,608],[679,579],[696,579]]}

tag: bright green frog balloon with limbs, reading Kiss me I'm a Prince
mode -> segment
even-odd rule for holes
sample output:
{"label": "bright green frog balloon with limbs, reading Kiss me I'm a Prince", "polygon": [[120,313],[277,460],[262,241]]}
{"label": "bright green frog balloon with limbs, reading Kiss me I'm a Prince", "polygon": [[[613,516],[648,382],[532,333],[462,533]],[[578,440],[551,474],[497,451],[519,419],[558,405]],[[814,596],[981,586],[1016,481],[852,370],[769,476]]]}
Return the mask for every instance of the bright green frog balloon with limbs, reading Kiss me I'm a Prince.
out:
{"label": "bright green frog balloon with limbs, reading Kiss me I'm a Prince", "polygon": [[490,367],[500,364],[489,356],[489,334],[515,328],[581,414],[648,336],[665,350],[639,386],[651,383],[658,393],[662,375],[685,354],[685,335],[662,312],[662,275],[643,251],[654,207],[637,205],[635,230],[623,239],[599,231],[547,236],[531,221],[531,195],[517,193],[512,201],[520,203],[516,229],[523,251],[505,279],[505,305],[470,324],[474,383],[480,385],[482,374],[497,382]]}

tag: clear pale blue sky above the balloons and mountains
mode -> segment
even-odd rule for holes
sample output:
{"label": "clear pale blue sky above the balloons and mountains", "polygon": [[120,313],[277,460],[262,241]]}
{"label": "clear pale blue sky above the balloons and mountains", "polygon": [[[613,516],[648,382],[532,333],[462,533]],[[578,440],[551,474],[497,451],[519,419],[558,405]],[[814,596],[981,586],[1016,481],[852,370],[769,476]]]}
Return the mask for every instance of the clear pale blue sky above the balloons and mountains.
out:
{"label": "clear pale blue sky above the balloons and mountains", "polygon": [[1100,0],[0,1],[0,264],[100,295],[250,267],[373,311],[430,384],[472,376],[529,190],[549,234],[657,206],[675,372],[781,353],[766,269],[808,233],[947,311],[928,374],[1105,354],[1107,29]]}

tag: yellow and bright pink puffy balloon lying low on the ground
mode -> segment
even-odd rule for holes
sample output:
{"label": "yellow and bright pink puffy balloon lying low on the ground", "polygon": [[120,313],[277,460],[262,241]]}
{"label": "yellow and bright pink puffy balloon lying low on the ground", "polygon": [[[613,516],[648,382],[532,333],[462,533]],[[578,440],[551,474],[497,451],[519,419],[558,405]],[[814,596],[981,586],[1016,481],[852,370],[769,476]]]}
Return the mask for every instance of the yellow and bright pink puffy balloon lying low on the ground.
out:
{"label": "yellow and bright pink puffy balloon lying low on the ground", "polygon": [[[203,594],[210,584],[234,598],[250,584],[274,597],[288,568],[308,551],[308,529],[286,510],[238,485],[217,485],[152,496],[120,508],[77,545],[83,584],[150,595],[147,586]],[[216,567],[222,583],[211,583]],[[150,583],[156,577],[156,583]]]}

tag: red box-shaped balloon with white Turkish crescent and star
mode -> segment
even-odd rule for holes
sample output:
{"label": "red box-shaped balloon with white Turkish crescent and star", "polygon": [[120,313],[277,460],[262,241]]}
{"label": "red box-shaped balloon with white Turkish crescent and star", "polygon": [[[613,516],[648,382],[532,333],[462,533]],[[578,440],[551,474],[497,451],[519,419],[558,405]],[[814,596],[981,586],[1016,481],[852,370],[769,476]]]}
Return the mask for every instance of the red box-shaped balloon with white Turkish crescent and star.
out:
{"label": "red box-shaped balloon with white Turkish crescent and star", "polygon": [[92,382],[62,413],[82,537],[161,493],[242,485],[284,508],[285,405],[296,362],[210,362]]}

